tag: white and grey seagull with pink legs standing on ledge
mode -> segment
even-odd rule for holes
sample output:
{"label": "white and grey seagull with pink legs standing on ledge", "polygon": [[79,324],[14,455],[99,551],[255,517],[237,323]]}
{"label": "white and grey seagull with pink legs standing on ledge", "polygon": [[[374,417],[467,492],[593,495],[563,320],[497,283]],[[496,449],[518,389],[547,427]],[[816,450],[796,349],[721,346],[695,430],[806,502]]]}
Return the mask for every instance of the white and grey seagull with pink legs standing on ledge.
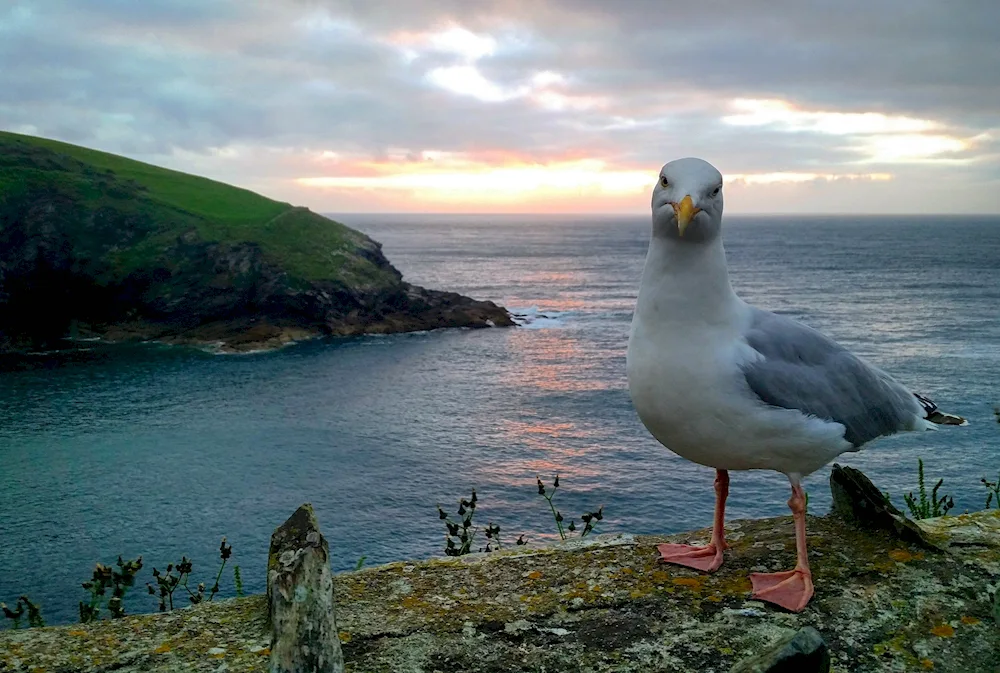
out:
{"label": "white and grey seagull with pink legs standing on ledge", "polygon": [[753,573],[753,597],[799,612],[813,595],[803,477],[901,431],[965,425],[832,339],[755,308],[729,283],[722,174],[671,161],[653,188],[653,231],[629,335],[629,393],[670,451],[716,470],[712,541],[662,544],[661,560],[712,572],[726,549],[730,470],[788,477],[797,563]]}

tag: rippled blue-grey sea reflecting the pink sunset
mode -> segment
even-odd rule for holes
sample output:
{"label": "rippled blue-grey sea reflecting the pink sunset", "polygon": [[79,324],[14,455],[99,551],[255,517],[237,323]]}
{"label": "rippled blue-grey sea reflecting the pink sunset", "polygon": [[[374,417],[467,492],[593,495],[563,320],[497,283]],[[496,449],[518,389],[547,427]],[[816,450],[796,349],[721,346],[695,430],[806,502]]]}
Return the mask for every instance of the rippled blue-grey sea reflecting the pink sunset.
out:
{"label": "rippled blue-grey sea reflecting the pink sunset", "polygon": [[[405,277],[495,300],[517,329],[333,339],[217,356],[158,346],[40,357],[0,373],[0,601],[73,621],[97,561],[194,560],[211,584],[225,535],[262,592],[270,534],[311,502],[336,571],[440,554],[436,506],[475,488],[508,544],[554,537],[536,475],[599,531],[710,525],[711,470],[659,446],[629,401],[625,348],[647,217],[340,216]],[[917,458],[957,511],[1000,470],[1000,219],[740,218],[726,223],[747,300],[821,329],[967,416],[842,462],[902,505]],[[829,506],[829,469],[806,480]],[[784,514],[787,481],[734,473],[730,517]],[[232,562],[231,562],[232,563]],[[232,595],[231,576],[223,595]],[[183,603],[183,600],[181,601]]]}

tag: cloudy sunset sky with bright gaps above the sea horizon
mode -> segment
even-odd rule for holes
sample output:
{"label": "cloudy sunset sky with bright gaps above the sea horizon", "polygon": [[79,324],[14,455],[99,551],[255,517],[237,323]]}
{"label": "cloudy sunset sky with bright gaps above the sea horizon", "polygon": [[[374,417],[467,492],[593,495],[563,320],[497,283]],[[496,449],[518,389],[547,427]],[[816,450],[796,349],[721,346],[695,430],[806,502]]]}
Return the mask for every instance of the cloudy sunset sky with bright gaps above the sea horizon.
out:
{"label": "cloudy sunset sky with bright gaps above the sea horizon", "polygon": [[0,129],[321,212],[1000,213],[995,0],[0,0]]}

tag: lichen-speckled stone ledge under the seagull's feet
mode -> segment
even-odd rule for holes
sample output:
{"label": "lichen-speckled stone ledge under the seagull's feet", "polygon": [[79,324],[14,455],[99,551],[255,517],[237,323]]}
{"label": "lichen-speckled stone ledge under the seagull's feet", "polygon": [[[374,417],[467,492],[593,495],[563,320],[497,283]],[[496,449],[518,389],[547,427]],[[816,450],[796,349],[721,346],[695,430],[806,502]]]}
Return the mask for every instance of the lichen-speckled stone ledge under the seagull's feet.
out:
{"label": "lichen-speckled stone ledge under the seagull's feet", "polygon": [[[943,551],[810,517],[816,596],[800,614],[752,601],[752,570],[791,567],[790,517],[734,521],[726,564],[656,560],[670,537],[393,563],[335,578],[347,670],[728,671],[812,626],[833,670],[995,673],[1000,512],[920,522]],[[0,633],[0,671],[265,671],[264,596],[93,625]]]}

